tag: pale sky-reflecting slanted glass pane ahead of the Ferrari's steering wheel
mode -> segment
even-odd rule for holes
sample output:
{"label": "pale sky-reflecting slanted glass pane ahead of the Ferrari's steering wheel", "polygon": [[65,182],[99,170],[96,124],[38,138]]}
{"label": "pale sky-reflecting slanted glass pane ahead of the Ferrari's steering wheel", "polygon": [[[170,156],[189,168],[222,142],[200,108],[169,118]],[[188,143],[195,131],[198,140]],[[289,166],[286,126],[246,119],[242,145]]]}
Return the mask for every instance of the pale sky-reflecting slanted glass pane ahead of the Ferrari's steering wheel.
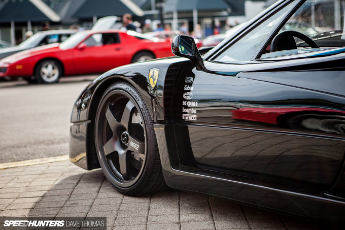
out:
{"label": "pale sky-reflecting slanted glass pane ahead of the Ferrari's steering wheel", "polygon": [[294,2],[290,3],[280,11],[274,13],[267,20],[263,21],[247,35],[218,55],[214,61],[237,62],[251,60],[265,39],[272,33],[272,30],[278,26],[278,23],[284,17],[286,17],[293,3]]}

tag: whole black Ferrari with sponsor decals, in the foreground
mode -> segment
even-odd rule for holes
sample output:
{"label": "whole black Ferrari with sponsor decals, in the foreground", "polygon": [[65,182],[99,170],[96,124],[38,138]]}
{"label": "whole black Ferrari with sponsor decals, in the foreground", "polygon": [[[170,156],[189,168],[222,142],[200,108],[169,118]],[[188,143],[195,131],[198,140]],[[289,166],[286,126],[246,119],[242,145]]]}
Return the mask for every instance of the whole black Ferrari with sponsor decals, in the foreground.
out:
{"label": "whole black Ferrari with sponsor decals, in the foreground", "polygon": [[213,48],[102,74],[70,159],[123,194],[172,188],[345,221],[345,1],[275,3]]}

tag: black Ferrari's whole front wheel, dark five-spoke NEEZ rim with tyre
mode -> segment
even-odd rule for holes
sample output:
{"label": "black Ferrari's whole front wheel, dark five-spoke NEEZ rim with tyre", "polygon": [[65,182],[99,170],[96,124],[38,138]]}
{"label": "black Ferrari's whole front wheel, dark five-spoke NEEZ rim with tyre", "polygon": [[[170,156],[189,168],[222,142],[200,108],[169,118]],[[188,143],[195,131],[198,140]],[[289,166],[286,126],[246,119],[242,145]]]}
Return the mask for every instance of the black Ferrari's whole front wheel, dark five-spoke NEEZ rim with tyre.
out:
{"label": "black Ferrari's whole front wheel, dark five-spoke NEEZ rim with tyre", "polygon": [[116,190],[143,195],[166,187],[153,121],[132,85],[118,82],[103,93],[94,124],[99,164]]}

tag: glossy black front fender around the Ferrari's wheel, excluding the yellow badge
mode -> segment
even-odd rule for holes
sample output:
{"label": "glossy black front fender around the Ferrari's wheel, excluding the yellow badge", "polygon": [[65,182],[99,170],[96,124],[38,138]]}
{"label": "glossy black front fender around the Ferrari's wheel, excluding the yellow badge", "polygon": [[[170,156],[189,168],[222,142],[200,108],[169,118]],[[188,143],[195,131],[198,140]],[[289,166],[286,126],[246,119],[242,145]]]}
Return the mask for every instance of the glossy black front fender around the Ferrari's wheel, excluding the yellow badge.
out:
{"label": "glossy black front fender around the Ferrari's wheel, excluding the yellow badge", "polygon": [[[186,62],[185,58],[180,59]],[[71,115],[70,160],[87,170],[99,168],[93,140],[93,123],[103,92],[117,81],[126,81],[133,85],[142,95],[151,119],[163,121],[165,75],[169,65],[177,61],[176,57],[172,57],[124,65],[100,75],[86,86],[78,96]],[[159,70],[154,87],[150,85],[149,80],[149,72],[153,68]],[[88,146],[85,146],[85,143]]]}

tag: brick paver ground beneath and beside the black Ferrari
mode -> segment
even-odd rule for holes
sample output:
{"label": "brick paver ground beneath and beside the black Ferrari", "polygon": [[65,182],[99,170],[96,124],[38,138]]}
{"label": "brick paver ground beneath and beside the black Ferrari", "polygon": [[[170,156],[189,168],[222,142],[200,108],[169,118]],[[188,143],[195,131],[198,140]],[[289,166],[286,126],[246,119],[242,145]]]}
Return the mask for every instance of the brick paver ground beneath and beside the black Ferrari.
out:
{"label": "brick paver ground beneath and beside the black Ferrari", "polygon": [[107,229],[330,229],[207,195],[167,190],[131,197],[100,170],[70,161],[0,170],[0,216],[107,217]]}

